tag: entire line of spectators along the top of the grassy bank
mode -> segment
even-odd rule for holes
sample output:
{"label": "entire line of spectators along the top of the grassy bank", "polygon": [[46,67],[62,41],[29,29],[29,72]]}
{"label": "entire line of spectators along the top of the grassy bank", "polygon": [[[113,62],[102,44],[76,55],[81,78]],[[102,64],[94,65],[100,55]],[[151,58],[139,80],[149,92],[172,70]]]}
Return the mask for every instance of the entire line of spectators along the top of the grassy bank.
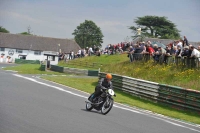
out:
{"label": "entire line of spectators along the top of the grassy bank", "polygon": [[[163,47],[164,46],[164,47]],[[130,62],[142,59],[144,54],[150,55],[154,61],[167,62],[168,56],[175,57],[188,57],[199,58],[200,46],[195,48],[192,44],[189,44],[187,38],[174,40],[173,42],[160,46],[157,43],[151,41],[142,42],[121,42],[118,44],[109,44],[105,49],[100,49],[97,46],[86,47],[79,49],[78,51],[70,51],[69,53],[60,53],[59,60],[73,60],[75,58],[82,58],[85,56],[100,56],[101,54],[113,55],[116,53],[127,52]],[[199,58],[200,61],[200,58]]]}

